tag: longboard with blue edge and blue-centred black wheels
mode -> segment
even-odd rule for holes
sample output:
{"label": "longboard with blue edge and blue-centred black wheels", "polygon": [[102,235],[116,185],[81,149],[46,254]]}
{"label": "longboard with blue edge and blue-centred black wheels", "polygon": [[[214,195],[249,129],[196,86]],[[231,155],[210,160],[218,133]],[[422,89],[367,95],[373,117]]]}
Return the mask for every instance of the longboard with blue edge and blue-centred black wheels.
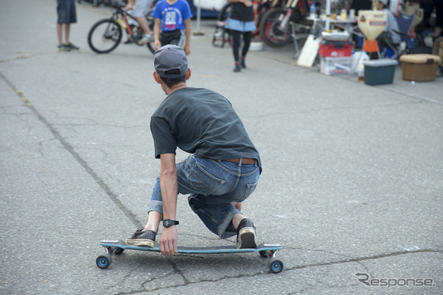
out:
{"label": "longboard with blue edge and blue-centred black wheels", "polygon": [[[105,248],[106,254],[100,255],[96,259],[96,264],[101,269],[105,269],[111,265],[112,256],[123,253],[126,249],[138,251],[160,252],[160,245],[155,244],[154,247],[140,247],[127,245],[123,240],[102,240],[100,245]],[[219,253],[248,253],[258,252],[262,258],[268,259],[268,267],[273,273],[278,273],[283,269],[283,262],[275,258],[275,253],[282,249],[280,244],[262,244],[250,249],[237,249],[235,246],[221,247],[177,247],[179,253],[188,254],[219,254]]]}

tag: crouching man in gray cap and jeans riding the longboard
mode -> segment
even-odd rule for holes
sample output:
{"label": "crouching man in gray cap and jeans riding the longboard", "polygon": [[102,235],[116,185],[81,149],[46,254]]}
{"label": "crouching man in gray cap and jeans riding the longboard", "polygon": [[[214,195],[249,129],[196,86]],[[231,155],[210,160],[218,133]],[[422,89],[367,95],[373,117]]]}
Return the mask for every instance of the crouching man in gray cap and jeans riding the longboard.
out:
{"label": "crouching man in gray cap and jeans riding the longboard", "polygon": [[[187,87],[191,76],[183,48],[155,52],[154,80],[168,96],[151,118],[160,177],[148,206],[148,222],[126,244],[153,247],[163,220],[160,249],[177,254],[177,195],[190,195],[192,211],[219,238],[237,234],[237,248],[257,247],[253,222],[239,209],[257,186],[260,155],[230,102],[214,91]],[[176,164],[175,152],[192,154]]]}

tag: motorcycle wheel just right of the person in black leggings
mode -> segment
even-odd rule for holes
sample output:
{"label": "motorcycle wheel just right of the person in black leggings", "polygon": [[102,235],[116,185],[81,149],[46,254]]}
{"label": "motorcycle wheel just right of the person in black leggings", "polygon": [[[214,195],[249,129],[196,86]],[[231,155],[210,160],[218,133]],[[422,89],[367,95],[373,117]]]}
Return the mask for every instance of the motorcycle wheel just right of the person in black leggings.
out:
{"label": "motorcycle wheel just right of the person in black leggings", "polygon": [[274,8],[266,12],[260,21],[260,37],[271,47],[282,47],[291,41],[291,27],[279,28],[284,15],[284,8]]}

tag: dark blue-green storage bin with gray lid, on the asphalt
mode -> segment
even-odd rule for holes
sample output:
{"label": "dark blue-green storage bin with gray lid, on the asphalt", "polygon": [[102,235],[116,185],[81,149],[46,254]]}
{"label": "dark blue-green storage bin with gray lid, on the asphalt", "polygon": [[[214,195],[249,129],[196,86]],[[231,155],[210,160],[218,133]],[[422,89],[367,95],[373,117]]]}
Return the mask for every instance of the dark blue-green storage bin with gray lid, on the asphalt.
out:
{"label": "dark blue-green storage bin with gray lid, on the asphalt", "polygon": [[397,60],[367,60],[365,65],[365,84],[390,84],[394,80]]}

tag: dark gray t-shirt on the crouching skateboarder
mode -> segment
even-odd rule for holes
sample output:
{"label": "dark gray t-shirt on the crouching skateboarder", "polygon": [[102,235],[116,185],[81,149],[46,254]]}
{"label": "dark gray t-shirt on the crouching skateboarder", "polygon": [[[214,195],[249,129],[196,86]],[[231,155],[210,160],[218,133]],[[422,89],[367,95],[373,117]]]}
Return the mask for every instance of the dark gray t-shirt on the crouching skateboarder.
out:
{"label": "dark gray t-shirt on the crouching skateboarder", "polygon": [[230,102],[219,93],[186,87],[171,93],[151,117],[155,157],[177,147],[215,160],[257,159],[260,154]]}

